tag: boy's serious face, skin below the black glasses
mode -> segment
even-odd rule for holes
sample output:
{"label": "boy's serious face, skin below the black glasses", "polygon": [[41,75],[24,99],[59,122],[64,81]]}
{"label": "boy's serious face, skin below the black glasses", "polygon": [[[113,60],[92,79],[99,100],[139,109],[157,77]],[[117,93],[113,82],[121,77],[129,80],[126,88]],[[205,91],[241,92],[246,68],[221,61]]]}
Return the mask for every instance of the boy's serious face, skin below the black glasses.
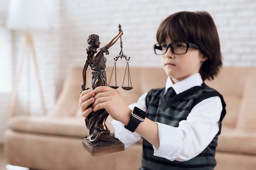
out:
{"label": "boy's serious face, skin below the black glasses", "polygon": [[[173,43],[173,41],[167,39],[166,43]],[[195,48],[189,48],[186,54],[173,54],[171,48],[168,48],[167,52],[162,54],[162,65],[173,83],[178,83],[198,73],[202,63],[207,59],[200,50]]]}

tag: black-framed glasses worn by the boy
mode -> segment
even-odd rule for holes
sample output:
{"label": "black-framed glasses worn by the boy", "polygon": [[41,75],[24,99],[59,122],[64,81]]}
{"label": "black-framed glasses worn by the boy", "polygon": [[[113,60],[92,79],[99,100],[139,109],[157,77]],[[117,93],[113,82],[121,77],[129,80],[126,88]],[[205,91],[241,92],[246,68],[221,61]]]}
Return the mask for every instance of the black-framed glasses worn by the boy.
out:
{"label": "black-framed glasses worn by the boy", "polygon": [[173,42],[171,44],[157,43],[154,45],[155,54],[157,55],[165,54],[169,47],[171,48],[171,51],[173,52],[173,54],[186,54],[186,52],[190,47],[198,50],[200,49],[200,47],[197,44],[188,43],[188,42]]}

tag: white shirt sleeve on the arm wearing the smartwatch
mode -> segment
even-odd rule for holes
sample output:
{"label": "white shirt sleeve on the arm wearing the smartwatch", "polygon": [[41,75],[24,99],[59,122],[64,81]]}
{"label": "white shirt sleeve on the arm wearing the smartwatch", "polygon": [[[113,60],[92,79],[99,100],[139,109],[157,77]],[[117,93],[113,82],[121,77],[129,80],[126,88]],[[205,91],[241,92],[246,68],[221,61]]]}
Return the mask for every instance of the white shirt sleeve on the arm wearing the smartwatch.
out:
{"label": "white shirt sleeve on the arm wearing the smartwatch", "polygon": [[157,122],[160,146],[153,146],[154,156],[187,161],[199,155],[219,131],[221,111],[220,97],[215,96],[195,105],[178,127]]}

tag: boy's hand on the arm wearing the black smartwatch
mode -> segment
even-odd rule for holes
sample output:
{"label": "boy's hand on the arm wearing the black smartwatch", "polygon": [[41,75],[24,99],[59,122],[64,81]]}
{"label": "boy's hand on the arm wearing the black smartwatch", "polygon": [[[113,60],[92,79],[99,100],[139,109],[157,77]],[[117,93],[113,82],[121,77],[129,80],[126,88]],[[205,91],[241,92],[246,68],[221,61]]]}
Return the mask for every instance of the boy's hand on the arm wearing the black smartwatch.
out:
{"label": "boy's hand on the arm wearing the black smartwatch", "polygon": [[[90,97],[93,97],[93,99],[88,101],[87,104],[84,105],[85,107],[93,103],[93,111],[105,109],[113,119],[125,125],[128,124],[131,110],[116,89],[108,86],[99,86],[93,90],[92,95],[88,95],[85,98],[89,99]],[[90,110],[90,108],[87,110]],[[87,114],[87,110],[84,112],[85,114]]]}

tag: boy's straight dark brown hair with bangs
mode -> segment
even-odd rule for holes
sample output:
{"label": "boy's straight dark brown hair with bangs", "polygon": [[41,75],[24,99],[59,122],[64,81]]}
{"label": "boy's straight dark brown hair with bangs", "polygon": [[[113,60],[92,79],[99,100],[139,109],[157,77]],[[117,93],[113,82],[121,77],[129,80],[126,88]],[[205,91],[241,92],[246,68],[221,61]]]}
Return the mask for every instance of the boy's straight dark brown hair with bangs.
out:
{"label": "boy's straight dark brown hair with bangs", "polygon": [[170,15],[159,25],[156,35],[158,42],[168,37],[172,41],[198,44],[202,54],[208,57],[199,73],[203,80],[214,79],[222,66],[222,56],[217,28],[209,13],[183,11]]}

